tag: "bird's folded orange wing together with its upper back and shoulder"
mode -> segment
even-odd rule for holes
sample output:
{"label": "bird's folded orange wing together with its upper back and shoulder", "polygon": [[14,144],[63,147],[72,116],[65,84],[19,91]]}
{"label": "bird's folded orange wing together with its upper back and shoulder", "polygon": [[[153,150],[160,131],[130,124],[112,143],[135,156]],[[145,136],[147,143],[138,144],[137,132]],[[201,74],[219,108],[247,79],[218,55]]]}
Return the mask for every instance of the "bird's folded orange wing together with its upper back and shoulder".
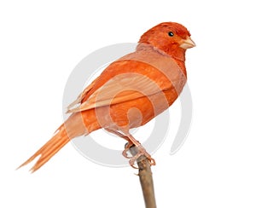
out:
{"label": "bird's folded orange wing together with its upper back and shoulder", "polygon": [[110,64],[67,113],[131,101],[171,88],[179,93],[185,82],[186,74],[172,57],[154,50],[135,52]]}

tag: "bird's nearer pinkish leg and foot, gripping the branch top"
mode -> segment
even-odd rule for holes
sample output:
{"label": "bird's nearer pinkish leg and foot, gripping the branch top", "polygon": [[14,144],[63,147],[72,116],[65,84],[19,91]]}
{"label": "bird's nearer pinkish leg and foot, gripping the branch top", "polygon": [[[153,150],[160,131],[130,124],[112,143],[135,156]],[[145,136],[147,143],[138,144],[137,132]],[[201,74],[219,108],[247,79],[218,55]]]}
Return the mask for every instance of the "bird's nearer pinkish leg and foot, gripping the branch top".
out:
{"label": "bird's nearer pinkish leg and foot, gripping the branch top", "polygon": [[142,155],[144,155],[148,161],[150,165],[155,165],[155,161],[153,158],[151,158],[150,154],[145,150],[145,148],[141,145],[140,142],[138,142],[133,136],[131,136],[130,134],[127,135],[127,137],[130,139],[130,141],[132,142],[132,144],[134,144],[137,147],[137,154],[135,156],[133,156],[130,161],[129,164],[132,167],[135,167],[135,161]]}

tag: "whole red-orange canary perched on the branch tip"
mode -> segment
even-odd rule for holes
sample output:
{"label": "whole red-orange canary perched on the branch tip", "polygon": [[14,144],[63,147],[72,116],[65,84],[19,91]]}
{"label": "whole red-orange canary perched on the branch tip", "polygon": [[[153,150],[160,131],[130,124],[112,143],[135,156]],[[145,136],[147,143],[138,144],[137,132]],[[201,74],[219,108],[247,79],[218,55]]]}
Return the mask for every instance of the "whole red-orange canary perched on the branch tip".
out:
{"label": "whole red-orange canary perched on the branch tip", "polygon": [[[155,165],[130,130],[147,124],[177,100],[187,81],[185,52],[195,47],[190,36],[177,22],[162,22],[144,32],[134,52],[109,64],[67,107],[70,116],[49,142],[18,168],[38,158],[31,168],[34,172],[73,138],[99,129],[127,141],[123,155],[131,166],[141,155]],[[132,146],[138,153],[128,157]]]}

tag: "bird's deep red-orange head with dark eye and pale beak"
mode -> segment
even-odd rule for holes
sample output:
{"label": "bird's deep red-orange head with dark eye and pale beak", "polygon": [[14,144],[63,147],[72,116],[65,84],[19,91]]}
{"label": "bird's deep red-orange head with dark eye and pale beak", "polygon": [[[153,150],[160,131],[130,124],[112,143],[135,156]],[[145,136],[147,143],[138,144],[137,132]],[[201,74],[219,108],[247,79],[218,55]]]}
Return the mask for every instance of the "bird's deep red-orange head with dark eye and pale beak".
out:
{"label": "bird's deep red-orange head with dark eye and pale beak", "polygon": [[172,55],[177,59],[183,59],[186,49],[195,47],[186,27],[176,22],[163,22],[145,32],[139,43],[153,45],[157,49]]}

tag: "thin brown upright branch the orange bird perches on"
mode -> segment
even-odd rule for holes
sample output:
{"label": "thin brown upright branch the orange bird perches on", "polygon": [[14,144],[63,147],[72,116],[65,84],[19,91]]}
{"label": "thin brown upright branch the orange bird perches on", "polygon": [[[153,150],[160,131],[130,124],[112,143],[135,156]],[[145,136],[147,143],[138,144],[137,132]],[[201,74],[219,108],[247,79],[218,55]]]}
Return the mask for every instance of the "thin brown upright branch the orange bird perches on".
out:
{"label": "thin brown upright branch the orange bird perches on", "polygon": [[[130,153],[135,156],[137,154],[137,147],[130,148]],[[146,208],[156,208],[154,198],[154,182],[152,171],[148,159],[145,156],[140,156],[137,159],[138,176],[140,178],[141,187],[143,189],[143,198]]]}

